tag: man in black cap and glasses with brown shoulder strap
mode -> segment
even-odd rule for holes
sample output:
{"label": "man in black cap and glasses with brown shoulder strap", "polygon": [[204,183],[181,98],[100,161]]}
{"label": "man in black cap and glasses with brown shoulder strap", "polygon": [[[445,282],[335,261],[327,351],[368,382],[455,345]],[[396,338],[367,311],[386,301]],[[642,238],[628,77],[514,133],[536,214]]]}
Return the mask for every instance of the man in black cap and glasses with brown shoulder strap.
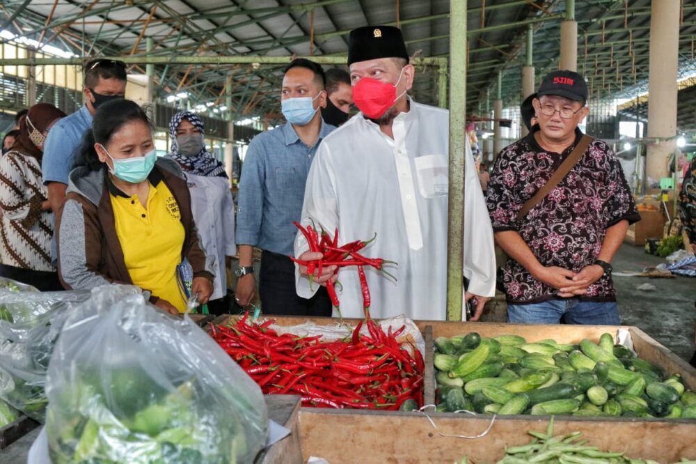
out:
{"label": "man in black cap and glasses with brown shoulder strap", "polygon": [[577,72],[549,73],[532,100],[537,125],[496,160],[487,202],[511,258],[509,322],[619,324],[610,262],[640,216],[615,153],[578,129],[586,102]]}

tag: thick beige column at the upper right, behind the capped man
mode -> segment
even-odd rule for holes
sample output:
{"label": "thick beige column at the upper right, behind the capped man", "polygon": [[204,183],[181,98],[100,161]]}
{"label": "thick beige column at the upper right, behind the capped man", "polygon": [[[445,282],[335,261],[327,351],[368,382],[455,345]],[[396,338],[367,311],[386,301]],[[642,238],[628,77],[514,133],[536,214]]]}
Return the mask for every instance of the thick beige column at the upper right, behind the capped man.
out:
{"label": "thick beige column at the upper right, behind the capped man", "polygon": [[679,4],[651,2],[648,137],[668,139],[648,144],[646,173],[653,181],[667,177],[667,159],[676,148]]}

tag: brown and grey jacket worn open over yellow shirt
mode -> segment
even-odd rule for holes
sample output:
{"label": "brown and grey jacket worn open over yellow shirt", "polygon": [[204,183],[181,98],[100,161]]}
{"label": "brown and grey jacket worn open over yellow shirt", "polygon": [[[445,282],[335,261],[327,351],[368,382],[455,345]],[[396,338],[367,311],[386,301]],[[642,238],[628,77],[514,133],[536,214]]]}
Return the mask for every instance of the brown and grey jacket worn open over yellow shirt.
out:
{"label": "brown and grey jacket worn open over yellow shirt", "polygon": [[[212,281],[214,274],[200,246],[191,213],[191,194],[180,167],[171,160],[159,158],[150,173],[150,181],[164,182],[179,205],[186,233],[182,259],[188,259],[193,277]],[[116,235],[104,169],[74,169],[69,182],[63,208],[56,217],[61,283],[68,290],[90,289],[109,283],[133,285]],[[150,297],[152,303],[157,300],[157,295]]]}

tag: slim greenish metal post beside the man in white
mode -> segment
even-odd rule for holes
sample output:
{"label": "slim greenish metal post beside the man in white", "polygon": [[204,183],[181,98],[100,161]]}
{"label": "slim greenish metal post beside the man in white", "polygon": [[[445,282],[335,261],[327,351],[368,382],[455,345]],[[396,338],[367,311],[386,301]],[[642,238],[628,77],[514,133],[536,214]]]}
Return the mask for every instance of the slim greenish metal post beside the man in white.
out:
{"label": "slim greenish metal post beside the man in white", "polygon": [[447,228],[447,319],[461,320],[464,275],[466,150],[466,4],[450,0],[450,169]]}

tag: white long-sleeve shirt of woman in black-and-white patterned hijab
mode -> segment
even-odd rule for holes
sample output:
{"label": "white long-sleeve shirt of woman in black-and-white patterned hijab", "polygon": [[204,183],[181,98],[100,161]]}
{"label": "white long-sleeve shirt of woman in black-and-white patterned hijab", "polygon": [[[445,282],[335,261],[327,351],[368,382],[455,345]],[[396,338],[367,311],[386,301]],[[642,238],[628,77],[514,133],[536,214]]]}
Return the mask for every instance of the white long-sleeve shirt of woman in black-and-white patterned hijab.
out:
{"label": "white long-sleeve shirt of woman in black-and-white patterned hijab", "polygon": [[225,256],[235,256],[235,204],[226,177],[186,173],[200,245],[215,273],[211,300],[227,295]]}

